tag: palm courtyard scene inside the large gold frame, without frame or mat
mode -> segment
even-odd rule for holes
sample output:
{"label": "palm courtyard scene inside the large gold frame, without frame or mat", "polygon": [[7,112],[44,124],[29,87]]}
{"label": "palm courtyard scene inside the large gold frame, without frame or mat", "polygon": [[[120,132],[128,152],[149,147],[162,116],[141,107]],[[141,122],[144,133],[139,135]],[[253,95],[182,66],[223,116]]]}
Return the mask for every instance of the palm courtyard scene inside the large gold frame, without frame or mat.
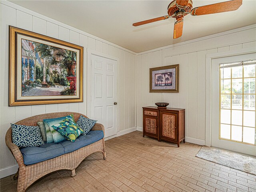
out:
{"label": "palm courtyard scene inside the large gold frame, without frame or mat", "polygon": [[76,95],[77,52],[22,39],[22,96]]}

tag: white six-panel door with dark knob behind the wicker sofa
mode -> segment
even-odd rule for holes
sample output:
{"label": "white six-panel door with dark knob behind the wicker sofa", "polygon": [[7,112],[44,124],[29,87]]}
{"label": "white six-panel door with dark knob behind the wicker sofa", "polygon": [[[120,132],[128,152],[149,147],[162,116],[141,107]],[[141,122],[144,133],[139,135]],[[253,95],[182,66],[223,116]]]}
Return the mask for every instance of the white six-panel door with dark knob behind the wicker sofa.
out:
{"label": "white six-panel door with dark knob behind the wicker sofa", "polygon": [[105,138],[116,134],[117,61],[91,55],[91,114],[105,127]]}

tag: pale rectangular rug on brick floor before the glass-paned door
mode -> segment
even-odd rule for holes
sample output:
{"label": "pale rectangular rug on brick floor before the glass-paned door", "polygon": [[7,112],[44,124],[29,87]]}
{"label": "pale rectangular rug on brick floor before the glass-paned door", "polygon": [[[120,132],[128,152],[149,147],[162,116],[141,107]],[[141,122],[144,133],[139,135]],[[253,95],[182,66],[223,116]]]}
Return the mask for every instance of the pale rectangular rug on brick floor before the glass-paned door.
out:
{"label": "pale rectangular rug on brick floor before the glass-paned door", "polygon": [[202,146],[196,157],[256,175],[256,158]]}

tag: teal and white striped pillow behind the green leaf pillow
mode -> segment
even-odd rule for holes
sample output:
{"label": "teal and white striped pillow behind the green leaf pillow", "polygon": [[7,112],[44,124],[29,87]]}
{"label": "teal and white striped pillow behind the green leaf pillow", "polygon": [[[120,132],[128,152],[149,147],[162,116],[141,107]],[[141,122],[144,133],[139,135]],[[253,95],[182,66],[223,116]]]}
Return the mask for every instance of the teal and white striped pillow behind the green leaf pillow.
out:
{"label": "teal and white striped pillow behind the green leaf pillow", "polygon": [[58,143],[58,142],[65,140],[65,138],[61,134],[59,134],[54,128],[52,128],[53,125],[63,121],[65,118],[68,118],[68,119],[74,121],[74,118],[72,115],[43,120],[45,128],[46,128],[47,143]]}

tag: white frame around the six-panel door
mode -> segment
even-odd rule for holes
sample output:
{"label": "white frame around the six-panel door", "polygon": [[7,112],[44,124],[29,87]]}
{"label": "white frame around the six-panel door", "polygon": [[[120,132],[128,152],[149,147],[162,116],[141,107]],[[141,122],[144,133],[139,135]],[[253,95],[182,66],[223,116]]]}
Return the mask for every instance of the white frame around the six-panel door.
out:
{"label": "white frame around the six-panel door", "polygon": [[[119,67],[118,66],[120,64],[119,63],[120,62],[119,58],[117,58],[115,56],[111,56],[111,55],[108,55],[108,54],[105,54],[105,53],[98,52],[96,50],[92,50],[92,49],[87,48],[87,79],[86,79],[87,80],[87,84],[86,84],[86,86],[87,86],[87,89],[86,89],[86,91],[87,91],[87,93],[86,93],[87,98],[86,98],[86,114],[89,117],[92,116],[92,114],[91,114],[92,105],[91,105],[91,102],[90,102],[92,94],[91,94],[91,83],[89,83],[89,82],[91,82],[91,78],[92,78],[92,76],[91,76],[91,72],[92,72],[92,70],[91,70],[92,55],[96,55],[96,56],[104,57],[104,58],[107,58],[107,59],[115,60],[117,62],[117,66],[116,66],[116,69],[117,69],[116,70],[116,86],[117,87],[118,87],[118,76],[119,76],[119,71],[118,71]],[[117,103],[120,103],[119,102],[118,91],[116,91],[116,97],[117,97]],[[119,126],[118,126],[119,125],[119,116],[118,116],[118,114],[119,114],[119,105],[117,105],[116,107],[117,107],[116,108],[116,132],[119,132]]]}

